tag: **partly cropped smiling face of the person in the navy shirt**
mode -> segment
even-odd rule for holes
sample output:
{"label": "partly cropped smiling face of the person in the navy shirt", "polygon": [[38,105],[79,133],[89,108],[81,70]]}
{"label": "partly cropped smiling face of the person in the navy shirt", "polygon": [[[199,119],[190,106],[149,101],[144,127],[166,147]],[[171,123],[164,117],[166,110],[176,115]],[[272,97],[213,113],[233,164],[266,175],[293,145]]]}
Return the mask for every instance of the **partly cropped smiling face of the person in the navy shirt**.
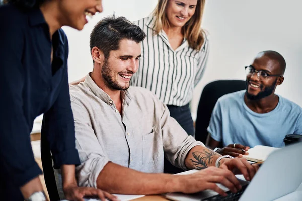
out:
{"label": "partly cropped smiling face of the person in the navy shirt", "polygon": [[60,0],[58,4],[64,25],[82,30],[88,22],[86,17],[102,12],[102,0]]}

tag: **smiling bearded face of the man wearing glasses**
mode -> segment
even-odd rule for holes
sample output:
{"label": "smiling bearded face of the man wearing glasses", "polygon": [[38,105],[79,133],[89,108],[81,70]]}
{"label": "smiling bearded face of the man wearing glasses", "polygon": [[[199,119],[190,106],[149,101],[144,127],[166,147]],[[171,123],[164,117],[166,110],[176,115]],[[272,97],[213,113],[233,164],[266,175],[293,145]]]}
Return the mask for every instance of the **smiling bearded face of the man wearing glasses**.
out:
{"label": "smiling bearded face of the man wearing glasses", "polygon": [[[269,57],[260,54],[251,64],[257,71],[264,70],[267,74],[281,74],[279,63]],[[253,75],[248,75],[246,79],[247,98],[250,100],[259,100],[274,93],[276,86],[280,85],[283,80],[280,77],[268,76],[260,80],[255,72]]]}

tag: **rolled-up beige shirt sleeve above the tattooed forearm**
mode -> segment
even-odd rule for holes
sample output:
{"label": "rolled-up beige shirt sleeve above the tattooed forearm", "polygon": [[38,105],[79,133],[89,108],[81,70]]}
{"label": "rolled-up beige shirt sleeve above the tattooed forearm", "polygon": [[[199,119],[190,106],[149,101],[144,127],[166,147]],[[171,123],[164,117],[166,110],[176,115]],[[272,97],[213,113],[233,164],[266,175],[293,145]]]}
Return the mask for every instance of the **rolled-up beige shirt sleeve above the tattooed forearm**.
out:
{"label": "rolled-up beige shirt sleeve above the tattooed forearm", "polygon": [[189,136],[179,123],[170,117],[169,109],[165,104],[159,104],[158,108],[162,111],[161,128],[165,156],[174,166],[188,170],[185,159],[189,151],[197,145],[205,145]]}

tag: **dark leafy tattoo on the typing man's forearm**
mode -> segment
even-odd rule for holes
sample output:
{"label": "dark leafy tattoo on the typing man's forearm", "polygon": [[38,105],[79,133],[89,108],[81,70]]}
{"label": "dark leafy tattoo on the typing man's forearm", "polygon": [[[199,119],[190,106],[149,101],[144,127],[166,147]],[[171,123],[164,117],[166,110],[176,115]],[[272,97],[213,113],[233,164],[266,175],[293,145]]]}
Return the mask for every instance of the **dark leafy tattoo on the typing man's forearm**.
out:
{"label": "dark leafy tattoo on the typing man's forearm", "polygon": [[197,170],[202,170],[207,168],[213,162],[213,156],[218,154],[210,149],[204,149],[202,152],[192,152],[192,155],[193,158],[190,159],[192,166]]}

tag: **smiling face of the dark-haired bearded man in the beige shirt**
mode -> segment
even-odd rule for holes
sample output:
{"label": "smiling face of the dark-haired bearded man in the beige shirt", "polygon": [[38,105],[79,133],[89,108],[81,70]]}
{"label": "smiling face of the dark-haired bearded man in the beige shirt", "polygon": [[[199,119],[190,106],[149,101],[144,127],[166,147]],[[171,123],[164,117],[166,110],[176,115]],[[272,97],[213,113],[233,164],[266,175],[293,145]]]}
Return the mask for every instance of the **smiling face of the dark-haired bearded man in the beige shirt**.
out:
{"label": "smiling face of the dark-haired bearded man in the beige shirt", "polygon": [[110,51],[101,68],[103,83],[111,90],[126,90],[136,73],[140,58],[140,43],[123,39],[118,50]]}

